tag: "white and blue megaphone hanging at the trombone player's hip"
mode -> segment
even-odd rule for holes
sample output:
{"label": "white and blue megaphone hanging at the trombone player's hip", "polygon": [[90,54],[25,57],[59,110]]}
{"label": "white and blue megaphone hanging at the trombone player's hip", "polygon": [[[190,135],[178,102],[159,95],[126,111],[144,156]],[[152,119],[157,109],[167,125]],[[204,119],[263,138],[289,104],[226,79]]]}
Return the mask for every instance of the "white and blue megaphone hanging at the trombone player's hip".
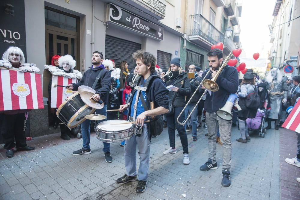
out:
{"label": "white and blue megaphone hanging at the trombone player's hip", "polygon": [[238,102],[236,101],[238,96],[236,94],[230,94],[228,97],[226,104],[220,109],[217,110],[216,114],[220,118],[224,120],[230,121],[232,119],[231,110],[233,105],[237,107],[238,110],[241,110],[241,107],[238,105]]}

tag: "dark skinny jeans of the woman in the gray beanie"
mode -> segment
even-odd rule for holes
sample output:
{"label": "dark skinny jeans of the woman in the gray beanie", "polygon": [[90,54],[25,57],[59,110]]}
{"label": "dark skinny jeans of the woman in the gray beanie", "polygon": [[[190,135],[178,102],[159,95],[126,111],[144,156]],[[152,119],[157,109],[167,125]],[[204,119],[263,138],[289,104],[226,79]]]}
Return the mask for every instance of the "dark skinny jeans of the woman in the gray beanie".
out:
{"label": "dark skinny jeans of the woman in the gray beanie", "polygon": [[[177,117],[182,111],[183,107],[174,107],[174,114],[167,116],[168,132],[170,139],[170,147],[175,148],[175,126],[179,133],[180,141],[182,144],[182,149],[184,154],[188,154],[188,143],[187,143],[187,134],[183,125],[177,123]],[[183,112],[179,118],[179,122],[184,121],[185,113]]]}

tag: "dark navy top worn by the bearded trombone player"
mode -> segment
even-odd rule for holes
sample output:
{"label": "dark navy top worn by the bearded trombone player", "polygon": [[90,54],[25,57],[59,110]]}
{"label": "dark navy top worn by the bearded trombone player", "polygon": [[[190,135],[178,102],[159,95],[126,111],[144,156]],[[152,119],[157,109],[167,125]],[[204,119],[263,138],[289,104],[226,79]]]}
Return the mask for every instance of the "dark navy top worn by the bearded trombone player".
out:
{"label": "dark navy top worn by the bearded trombone player", "polygon": [[[202,79],[206,75],[209,69],[206,69],[202,74]],[[205,79],[211,79],[211,73],[209,73]],[[206,99],[204,102],[204,110],[207,112],[216,112],[222,108],[229,95],[238,91],[238,71],[235,67],[226,65],[223,72],[217,77],[216,83],[219,86],[219,90],[216,92],[206,93]],[[202,93],[204,90],[202,90]]]}

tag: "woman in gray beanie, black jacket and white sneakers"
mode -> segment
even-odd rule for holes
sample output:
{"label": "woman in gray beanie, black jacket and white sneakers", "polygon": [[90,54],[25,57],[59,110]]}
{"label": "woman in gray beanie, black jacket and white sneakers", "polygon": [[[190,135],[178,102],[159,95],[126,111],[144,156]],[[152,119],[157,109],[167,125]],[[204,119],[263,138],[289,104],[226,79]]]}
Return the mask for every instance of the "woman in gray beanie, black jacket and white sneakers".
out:
{"label": "woman in gray beanie, black jacket and white sneakers", "polygon": [[[167,116],[168,132],[170,139],[170,148],[164,151],[164,154],[174,154],[177,153],[175,148],[175,126],[179,133],[180,141],[183,149],[183,164],[189,164],[190,160],[188,157],[188,143],[187,134],[183,125],[179,125],[176,121],[179,113],[183,110],[185,105],[185,96],[190,95],[191,88],[190,82],[187,78],[187,73],[182,71],[180,67],[180,58],[173,58],[170,62],[170,72],[172,70],[172,77],[165,77],[166,86],[173,85],[174,87],[169,93],[169,99],[173,100],[174,113]],[[184,113],[179,118],[180,122],[184,121]]]}

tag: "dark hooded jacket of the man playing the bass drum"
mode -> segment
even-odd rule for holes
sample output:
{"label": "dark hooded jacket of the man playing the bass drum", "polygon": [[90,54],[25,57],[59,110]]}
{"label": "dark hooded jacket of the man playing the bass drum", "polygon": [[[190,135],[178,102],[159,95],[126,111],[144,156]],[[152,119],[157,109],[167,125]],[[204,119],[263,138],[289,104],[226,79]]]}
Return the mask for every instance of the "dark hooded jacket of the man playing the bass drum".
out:
{"label": "dark hooded jacket of the man playing the bass drum", "polygon": [[73,85],[73,90],[77,90],[79,86],[85,85],[88,87],[92,87],[96,77],[98,77],[99,72],[100,73],[100,79],[98,83],[96,84],[94,90],[96,90],[96,94],[100,95],[101,100],[104,102],[106,105],[108,102],[108,93],[110,91],[110,85],[111,85],[111,80],[110,80],[110,72],[107,69],[102,69],[100,67],[97,68],[91,68],[88,69],[86,72],[83,73],[82,79],[77,83],[72,83]]}

